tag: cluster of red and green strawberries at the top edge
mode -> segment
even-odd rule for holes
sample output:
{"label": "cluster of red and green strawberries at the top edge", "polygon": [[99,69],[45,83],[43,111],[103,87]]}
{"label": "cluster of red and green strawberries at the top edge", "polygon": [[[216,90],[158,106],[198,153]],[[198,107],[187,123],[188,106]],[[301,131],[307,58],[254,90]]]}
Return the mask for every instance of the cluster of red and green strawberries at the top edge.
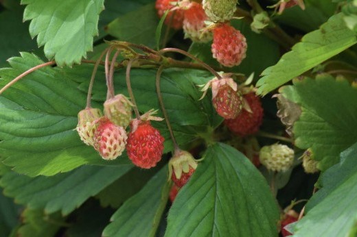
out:
{"label": "cluster of red and green strawberries at the top edge", "polygon": [[213,57],[223,66],[231,67],[238,66],[246,57],[246,38],[229,25],[237,3],[237,0],[203,0],[202,3],[157,0],[156,9],[159,17],[170,10],[165,23],[174,29],[183,28],[186,38],[194,42],[209,42],[213,38]]}

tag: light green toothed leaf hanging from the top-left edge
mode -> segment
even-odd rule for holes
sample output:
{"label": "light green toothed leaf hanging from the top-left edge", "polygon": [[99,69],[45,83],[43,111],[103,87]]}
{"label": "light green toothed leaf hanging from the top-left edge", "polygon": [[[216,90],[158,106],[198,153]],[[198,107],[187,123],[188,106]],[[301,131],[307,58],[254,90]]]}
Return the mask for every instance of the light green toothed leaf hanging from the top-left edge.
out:
{"label": "light green toothed leaf hanging from the top-left edge", "polygon": [[22,0],[26,4],[23,20],[30,23],[30,35],[37,36],[38,46],[59,66],[80,63],[93,49],[98,34],[99,14],[104,0]]}

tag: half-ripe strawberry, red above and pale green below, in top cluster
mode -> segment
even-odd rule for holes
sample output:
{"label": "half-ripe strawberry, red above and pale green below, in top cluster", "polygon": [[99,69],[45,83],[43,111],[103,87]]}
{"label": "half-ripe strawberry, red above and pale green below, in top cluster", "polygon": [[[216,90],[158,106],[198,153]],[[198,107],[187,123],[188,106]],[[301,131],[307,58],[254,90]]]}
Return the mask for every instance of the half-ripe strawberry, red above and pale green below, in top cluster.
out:
{"label": "half-ripe strawberry, red above and pale green below, in top cluster", "polygon": [[212,39],[212,34],[209,31],[203,30],[205,28],[205,21],[208,18],[202,4],[192,2],[189,8],[185,10],[183,15],[183,32],[185,38],[190,38],[196,42],[208,42]]}

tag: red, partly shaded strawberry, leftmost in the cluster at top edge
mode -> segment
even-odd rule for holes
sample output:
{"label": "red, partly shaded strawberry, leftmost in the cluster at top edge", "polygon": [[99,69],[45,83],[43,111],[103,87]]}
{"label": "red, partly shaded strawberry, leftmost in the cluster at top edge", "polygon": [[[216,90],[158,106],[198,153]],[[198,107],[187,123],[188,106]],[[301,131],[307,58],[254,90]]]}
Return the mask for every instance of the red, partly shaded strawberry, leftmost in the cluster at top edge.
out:
{"label": "red, partly shaded strawberry, leftmost in the cluster at top edge", "polygon": [[[171,3],[175,2],[173,0],[157,0],[155,3],[155,8],[157,9],[157,14],[161,18],[166,10],[174,8]],[[174,29],[181,29],[183,25],[183,10],[176,9],[170,11],[165,18],[165,24],[170,25]]]}

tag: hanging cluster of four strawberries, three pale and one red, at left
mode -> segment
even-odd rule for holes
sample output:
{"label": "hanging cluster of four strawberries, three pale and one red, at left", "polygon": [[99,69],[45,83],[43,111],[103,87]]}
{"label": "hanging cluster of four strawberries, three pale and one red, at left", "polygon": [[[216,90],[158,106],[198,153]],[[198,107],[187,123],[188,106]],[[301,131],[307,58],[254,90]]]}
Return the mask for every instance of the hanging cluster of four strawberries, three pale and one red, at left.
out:
{"label": "hanging cluster of four strawberries, three pale and one red, at left", "polygon": [[104,102],[104,115],[96,108],[80,111],[76,129],[81,140],[93,146],[104,160],[116,159],[126,148],[133,164],[150,169],[161,160],[164,141],[150,121],[162,118],[152,116],[154,112],[149,111],[132,120],[132,106],[124,95],[116,95]]}

